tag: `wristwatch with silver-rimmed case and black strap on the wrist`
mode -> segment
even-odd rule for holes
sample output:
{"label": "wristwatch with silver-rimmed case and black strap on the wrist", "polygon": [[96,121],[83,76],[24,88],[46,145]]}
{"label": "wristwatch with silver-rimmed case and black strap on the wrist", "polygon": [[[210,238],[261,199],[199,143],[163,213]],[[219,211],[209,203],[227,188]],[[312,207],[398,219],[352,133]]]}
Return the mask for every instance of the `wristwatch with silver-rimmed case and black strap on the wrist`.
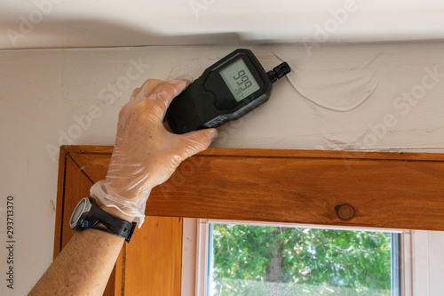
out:
{"label": "wristwatch with silver-rimmed case and black strap on the wrist", "polygon": [[99,229],[115,236],[122,236],[126,242],[130,242],[137,223],[115,217],[100,209],[93,197],[84,197],[75,206],[69,225],[73,230]]}

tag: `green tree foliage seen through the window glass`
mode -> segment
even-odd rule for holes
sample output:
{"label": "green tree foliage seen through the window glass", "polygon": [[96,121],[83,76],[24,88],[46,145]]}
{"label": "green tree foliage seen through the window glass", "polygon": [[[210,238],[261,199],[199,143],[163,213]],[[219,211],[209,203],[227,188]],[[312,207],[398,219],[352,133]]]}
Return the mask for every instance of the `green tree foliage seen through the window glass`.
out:
{"label": "green tree foliage seen through the window glass", "polygon": [[391,234],[215,224],[213,237],[213,281],[220,296],[273,294],[242,288],[249,281],[264,283],[272,273],[305,292],[324,287],[323,294],[346,289],[354,295],[390,295]]}

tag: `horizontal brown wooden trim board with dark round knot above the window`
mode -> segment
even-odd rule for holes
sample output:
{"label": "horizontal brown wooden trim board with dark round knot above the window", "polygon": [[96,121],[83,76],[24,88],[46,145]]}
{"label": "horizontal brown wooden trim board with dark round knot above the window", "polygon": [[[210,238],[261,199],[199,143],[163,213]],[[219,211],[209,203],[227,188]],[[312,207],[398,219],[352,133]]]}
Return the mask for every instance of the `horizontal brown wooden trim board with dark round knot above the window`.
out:
{"label": "horizontal brown wooden trim board with dark round knot above the window", "polygon": [[[67,147],[102,166],[112,150]],[[443,196],[442,154],[209,148],[153,189],[146,214],[444,230]]]}

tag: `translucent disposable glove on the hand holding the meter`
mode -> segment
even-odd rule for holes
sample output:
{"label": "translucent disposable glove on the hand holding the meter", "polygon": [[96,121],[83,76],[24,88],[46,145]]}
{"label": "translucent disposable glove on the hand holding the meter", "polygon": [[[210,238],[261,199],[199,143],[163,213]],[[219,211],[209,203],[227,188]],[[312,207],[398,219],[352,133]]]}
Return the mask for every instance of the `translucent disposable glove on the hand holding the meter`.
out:
{"label": "translucent disposable glove on the hand holding the meter", "polygon": [[168,180],[187,157],[208,148],[218,134],[208,129],[178,135],[164,128],[166,109],[189,83],[150,79],[134,90],[119,113],[107,178],[91,187],[91,196],[134,217],[139,228],[151,189]]}

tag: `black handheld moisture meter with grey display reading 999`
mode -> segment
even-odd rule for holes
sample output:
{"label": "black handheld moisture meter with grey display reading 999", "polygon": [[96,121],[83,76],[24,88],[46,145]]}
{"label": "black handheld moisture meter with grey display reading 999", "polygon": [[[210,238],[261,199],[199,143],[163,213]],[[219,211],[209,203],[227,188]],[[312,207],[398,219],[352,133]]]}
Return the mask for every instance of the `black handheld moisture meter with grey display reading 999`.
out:
{"label": "black handheld moisture meter with grey display reading 999", "polygon": [[273,83],[289,71],[283,62],[266,72],[253,52],[237,49],[172,100],[165,118],[174,133],[218,127],[265,103]]}

